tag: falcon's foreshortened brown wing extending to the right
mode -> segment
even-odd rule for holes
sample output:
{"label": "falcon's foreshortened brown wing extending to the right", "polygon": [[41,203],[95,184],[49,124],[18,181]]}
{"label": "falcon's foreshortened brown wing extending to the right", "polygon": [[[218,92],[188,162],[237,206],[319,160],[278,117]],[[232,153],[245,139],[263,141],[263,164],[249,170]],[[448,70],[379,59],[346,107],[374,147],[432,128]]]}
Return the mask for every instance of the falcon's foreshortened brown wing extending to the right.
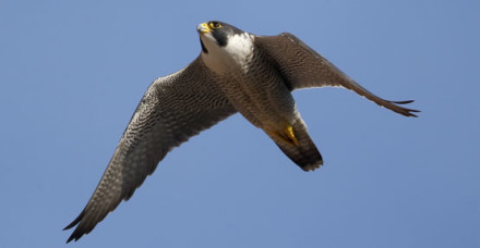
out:
{"label": "falcon's foreshortened brown wing extending to the right", "polygon": [[291,34],[256,36],[255,42],[271,57],[278,72],[286,78],[290,90],[324,86],[344,87],[405,116],[417,116],[412,112],[420,112],[398,106],[410,103],[412,100],[388,101],[373,95]]}

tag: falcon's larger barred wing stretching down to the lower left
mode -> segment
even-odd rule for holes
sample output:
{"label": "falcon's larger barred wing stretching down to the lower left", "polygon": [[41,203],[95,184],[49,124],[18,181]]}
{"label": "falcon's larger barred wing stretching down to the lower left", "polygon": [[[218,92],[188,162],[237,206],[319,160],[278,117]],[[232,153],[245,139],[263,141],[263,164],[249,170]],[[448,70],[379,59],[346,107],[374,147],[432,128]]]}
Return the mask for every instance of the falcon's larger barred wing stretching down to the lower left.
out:
{"label": "falcon's larger barred wing stretching down to the lower left", "polygon": [[148,87],[92,198],[65,227],[77,225],[67,243],[128,200],[173,147],[237,112],[213,79],[199,57]]}

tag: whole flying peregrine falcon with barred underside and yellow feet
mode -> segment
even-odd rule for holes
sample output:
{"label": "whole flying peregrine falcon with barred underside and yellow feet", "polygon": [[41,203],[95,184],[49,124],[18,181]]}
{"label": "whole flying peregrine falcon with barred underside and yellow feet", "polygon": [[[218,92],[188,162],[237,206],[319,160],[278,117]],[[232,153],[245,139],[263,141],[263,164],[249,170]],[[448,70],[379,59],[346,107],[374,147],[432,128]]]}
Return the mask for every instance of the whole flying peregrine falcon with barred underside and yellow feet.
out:
{"label": "whole flying peregrine falcon with barred underside and yellow feet", "polygon": [[196,26],[201,52],[184,69],[147,88],[67,243],[79,240],[129,200],[157,164],[190,137],[239,112],[303,171],[323,164],[309,136],[293,90],[343,87],[405,116],[408,101],[382,99],[296,36],[257,36],[220,21]]}

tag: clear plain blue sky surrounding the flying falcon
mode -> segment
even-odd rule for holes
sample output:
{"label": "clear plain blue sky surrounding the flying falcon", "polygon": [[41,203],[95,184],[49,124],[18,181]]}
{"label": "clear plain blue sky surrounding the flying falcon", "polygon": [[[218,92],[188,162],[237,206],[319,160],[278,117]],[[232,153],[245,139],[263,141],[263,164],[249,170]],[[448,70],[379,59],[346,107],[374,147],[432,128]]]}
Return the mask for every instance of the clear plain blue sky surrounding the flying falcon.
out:
{"label": "clear plain blue sky surrounding the flying falcon", "polygon": [[65,247],[149,83],[220,20],[290,32],[405,117],[293,94],[325,165],[237,114],[70,247],[480,247],[479,1],[0,1],[0,247]]}

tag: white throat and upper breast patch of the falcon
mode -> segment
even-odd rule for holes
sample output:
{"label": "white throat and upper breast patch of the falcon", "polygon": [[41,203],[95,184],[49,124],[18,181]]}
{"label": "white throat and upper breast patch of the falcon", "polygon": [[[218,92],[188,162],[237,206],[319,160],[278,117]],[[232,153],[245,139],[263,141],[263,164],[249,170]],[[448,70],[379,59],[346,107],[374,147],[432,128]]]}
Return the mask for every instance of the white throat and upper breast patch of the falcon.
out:
{"label": "white throat and upper breast patch of the falcon", "polygon": [[253,54],[253,35],[248,33],[231,35],[225,47],[220,47],[211,35],[205,35],[201,39],[208,51],[202,52],[202,59],[215,73],[221,75],[248,69],[247,64],[250,63]]}

